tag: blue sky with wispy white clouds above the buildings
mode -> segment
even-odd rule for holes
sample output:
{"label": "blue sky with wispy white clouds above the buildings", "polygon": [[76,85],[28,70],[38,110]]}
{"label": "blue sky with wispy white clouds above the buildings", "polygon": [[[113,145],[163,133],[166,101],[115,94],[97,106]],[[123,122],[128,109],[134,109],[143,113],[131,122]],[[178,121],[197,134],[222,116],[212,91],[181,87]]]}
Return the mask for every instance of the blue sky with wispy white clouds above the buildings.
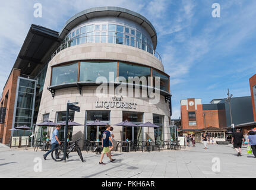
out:
{"label": "blue sky with wispy white clouds above the buildings", "polygon": [[[42,18],[34,4],[42,4]],[[220,17],[212,5],[220,5]],[[250,96],[256,74],[256,1],[254,0],[1,0],[0,89],[11,72],[31,24],[61,31],[84,9],[123,7],[146,17],[157,31],[156,51],[170,75],[172,119],[180,117],[180,100]],[[0,90],[1,91],[1,90]]]}

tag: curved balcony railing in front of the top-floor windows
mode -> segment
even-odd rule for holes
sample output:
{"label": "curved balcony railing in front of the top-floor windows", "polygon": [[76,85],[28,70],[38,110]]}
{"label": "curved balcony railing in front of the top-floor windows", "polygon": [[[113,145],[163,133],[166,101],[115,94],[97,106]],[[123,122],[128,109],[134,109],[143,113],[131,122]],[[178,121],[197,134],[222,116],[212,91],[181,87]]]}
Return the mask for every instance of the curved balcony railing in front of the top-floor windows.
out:
{"label": "curved balcony railing in front of the top-floor windows", "polygon": [[162,58],[159,53],[156,52],[148,43],[141,42],[142,40],[135,40],[126,37],[119,36],[108,36],[108,35],[93,35],[93,36],[82,36],[82,37],[74,37],[71,40],[68,40],[65,43],[62,43],[61,46],[52,54],[52,59],[57,55],[57,53],[66,49],[67,47],[72,47],[76,45],[80,45],[83,43],[115,43],[121,45],[127,45],[132,47],[137,47],[139,49],[143,49],[148,53],[154,55],[159,61],[162,62]]}

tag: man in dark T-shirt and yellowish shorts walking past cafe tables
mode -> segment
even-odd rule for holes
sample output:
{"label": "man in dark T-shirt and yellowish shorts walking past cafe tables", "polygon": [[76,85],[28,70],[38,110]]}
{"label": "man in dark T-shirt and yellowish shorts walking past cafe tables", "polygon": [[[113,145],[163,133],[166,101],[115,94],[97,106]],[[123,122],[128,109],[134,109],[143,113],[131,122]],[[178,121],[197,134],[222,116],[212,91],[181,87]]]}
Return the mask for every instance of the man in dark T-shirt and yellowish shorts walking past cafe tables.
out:
{"label": "man in dark T-shirt and yellowish shorts walking past cafe tables", "polygon": [[104,131],[103,134],[102,134],[103,151],[102,151],[102,156],[100,157],[99,165],[105,165],[105,163],[102,162],[103,157],[104,157],[105,154],[109,155],[110,162],[115,161],[115,159],[112,159],[111,155],[110,155],[109,141],[113,144],[113,141],[112,141],[111,135],[110,135],[110,125],[106,125],[106,131]]}

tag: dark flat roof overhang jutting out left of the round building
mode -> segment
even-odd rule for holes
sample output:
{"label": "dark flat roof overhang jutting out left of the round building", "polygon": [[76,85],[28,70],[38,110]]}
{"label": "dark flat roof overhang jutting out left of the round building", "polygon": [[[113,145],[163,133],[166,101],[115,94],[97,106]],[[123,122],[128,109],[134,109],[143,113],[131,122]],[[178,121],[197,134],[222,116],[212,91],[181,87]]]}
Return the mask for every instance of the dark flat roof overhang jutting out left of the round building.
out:
{"label": "dark flat roof overhang jutting out left of the round building", "polygon": [[58,37],[58,31],[32,24],[13,67],[21,69],[21,74],[31,75],[59,45]]}

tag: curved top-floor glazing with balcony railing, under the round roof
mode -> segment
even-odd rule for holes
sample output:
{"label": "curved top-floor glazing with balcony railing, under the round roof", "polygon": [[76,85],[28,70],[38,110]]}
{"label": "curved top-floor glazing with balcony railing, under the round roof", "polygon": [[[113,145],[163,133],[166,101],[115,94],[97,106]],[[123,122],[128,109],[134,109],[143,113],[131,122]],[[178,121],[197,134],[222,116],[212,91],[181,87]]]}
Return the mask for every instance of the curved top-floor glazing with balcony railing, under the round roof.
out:
{"label": "curved top-floor glazing with balcony railing, under the round roof", "polygon": [[136,29],[124,23],[111,21],[81,24],[67,34],[61,46],[53,53],[52,58],[67,47],[83,43],[107,42],[143,49],[155,55],[161,61],[160,55],[153,49],[150,35],[148,33],[142,33],[139,30],[141,29]]}

